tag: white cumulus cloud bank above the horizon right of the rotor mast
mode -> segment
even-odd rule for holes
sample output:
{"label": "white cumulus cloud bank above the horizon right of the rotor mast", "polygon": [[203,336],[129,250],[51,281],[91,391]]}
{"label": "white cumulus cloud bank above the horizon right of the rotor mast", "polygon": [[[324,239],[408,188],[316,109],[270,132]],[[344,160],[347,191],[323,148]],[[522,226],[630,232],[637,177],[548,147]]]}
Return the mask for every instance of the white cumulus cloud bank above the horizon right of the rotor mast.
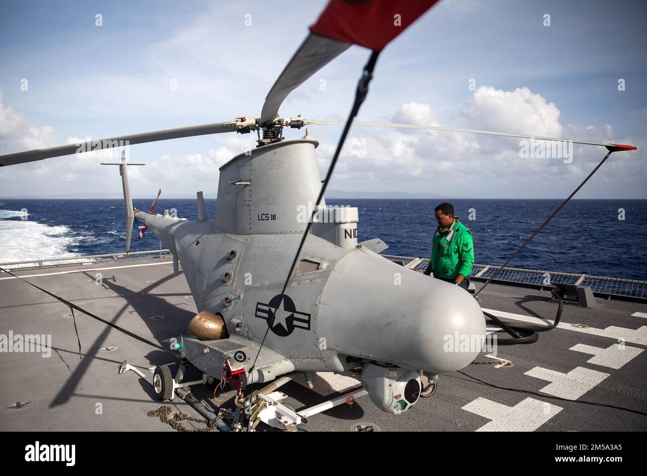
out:
{"label": "white cumulus cloud bank above the horizon right of the rotor mast", "polygon": [[[390,122],[432,124],[428,104],[402,104]],[[528,88],[502,91],[479,87],[459,114],[470,129],[569,137],[591,142],[633,143],[618,138],[609,124],[560,124],[560,109]],[[520,139],[424,130],[358,128],[347,139],[331,188],[342,190],[428,191],[455,196],[562,196],[592,170],[606,150],[577,146],[573,162],[565,157],[523,159]],[[361,133],[361,135],[358,135]],[[544,142],[545,143],[545,142]],[[320,150],[322,171],[334,148]],[[616,154],[620,155],[620,154]],[[639,161],[615,157],[602,181],[630,180],[640,173]],[[635,155],[631,156],[635,157]],[[367,179],[370,177],[370,179]],[[485,193],[484,193],[485,192]]]}

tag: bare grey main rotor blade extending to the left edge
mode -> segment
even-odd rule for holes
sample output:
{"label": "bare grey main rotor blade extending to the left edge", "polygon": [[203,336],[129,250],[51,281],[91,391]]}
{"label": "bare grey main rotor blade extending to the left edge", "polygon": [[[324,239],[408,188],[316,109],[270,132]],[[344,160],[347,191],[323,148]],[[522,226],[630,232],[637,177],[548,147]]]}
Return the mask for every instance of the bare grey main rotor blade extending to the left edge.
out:
{"label": "bare grey main rotor blade extending to the left edge", "polygon": [[184,128],[164,129],[159,131],[142,132],[139,134],[120,135],[109,139],[98,139],[96,141],[83,141],[76,144],[52,147],[49,149],[36,149],[27,152],[9,153],[0,155],[0,166],[23,164],[26,162],[41,161],[50,157],[61,157],[73,153],[91,152],[94,150],[110,149],[146,142],[167,141],[168,139],[179,139],[180,137],[194,137],[197,135],[217,134],[221,132],[235,132],[239,122],[230,120],[228,122],[214,122],[213,124],[202,124],[201,126],[188,126]]}

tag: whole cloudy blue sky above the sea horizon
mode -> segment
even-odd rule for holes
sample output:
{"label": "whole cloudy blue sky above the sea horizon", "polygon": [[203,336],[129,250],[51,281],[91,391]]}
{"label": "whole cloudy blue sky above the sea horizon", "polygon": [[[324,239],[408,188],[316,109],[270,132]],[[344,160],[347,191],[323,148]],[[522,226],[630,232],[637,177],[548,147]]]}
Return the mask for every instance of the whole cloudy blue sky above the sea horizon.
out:
{"label": "whole cloudy blue sky above the sea horizon", "polygon": [[[258,117],[323,6],[4,1],[0,153]],[[634,144],[639,150],[611,155],[576,198],[647,198],[646,13],[639,1],[441,0],[382,52],[358,119]],[[292,93],[281,115],[345,118],[368,54],[351,47]],[[471,79],[476,91],[468,88]],[[323,171],[340,128],[310,132],[322,142]],[[133,146],[131,160],[148,164],[133,172],[135,194],[152,195],[157,187],[214,192],[218,166],[252,141],[223,134]],[[560,198],[606,152],[576,147],[572,163],[564,163],[522,159],[519,150],[516,139],[356,128],[329,187]],[[0,196],[71,190],[118,196],[119,177],[99,167],[101,160],[61,157],[3,168]]]}

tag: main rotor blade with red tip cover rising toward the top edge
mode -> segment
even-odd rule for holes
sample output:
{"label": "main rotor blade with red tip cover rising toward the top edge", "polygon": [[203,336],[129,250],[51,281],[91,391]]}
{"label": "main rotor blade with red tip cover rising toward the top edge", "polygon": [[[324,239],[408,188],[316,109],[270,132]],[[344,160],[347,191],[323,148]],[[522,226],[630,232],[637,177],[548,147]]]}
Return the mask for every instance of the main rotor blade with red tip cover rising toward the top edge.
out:
{"label": "main rotor blade with red tip cover rising toward the top edge", "polygon": [[350,45],[383,49],[437,0],[331,0],[265,98],[261,124],[283,100]]}

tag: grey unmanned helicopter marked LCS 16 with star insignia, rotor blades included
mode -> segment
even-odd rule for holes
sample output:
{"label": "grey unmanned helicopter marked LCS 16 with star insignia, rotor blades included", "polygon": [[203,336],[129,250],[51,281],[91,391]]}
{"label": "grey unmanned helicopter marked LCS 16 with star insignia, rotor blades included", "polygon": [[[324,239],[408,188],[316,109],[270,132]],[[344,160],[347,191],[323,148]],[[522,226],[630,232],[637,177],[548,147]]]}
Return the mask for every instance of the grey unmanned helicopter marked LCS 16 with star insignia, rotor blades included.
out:
{"label": "grey unmanned helicopter marked LCS 16 with star insignia, rotor blades included", "polygon": [[[133,209],[126,159],[122,156],[118,164],[126,251],[134,221],[151,229],[173,255],[175,273],[182,267],[197,306],[190,334],[171,340],[173,352],[183,359],[181,372],[190,363],[208,383],[227,381],[239,392],[238,402],[245,402],[247,385],[276,381],[271,391],[283,383],[281,376],[292,372],[305,372],[305,381],[312,385],[314,372],[361,367],[362,385],[373,403],[384,411],[402,413],[419,400],[424,376],[435,385],[441,372],[459,370],[479,354],[486,320],[474,297],[459,286],[380,256],[386,249],[381,240],[358,243],[358,210],[326,207],[327,181],[322,181],[315,154],[318,141],[307,130],[302,138],[285,139],[283,130],[353,124],[565,139],[278,116],[291,91],[351,44],[371,49],[377,58],[378,51],[434,3],[331,0],[270,89],[258,118],[238,117],[81,144],[87,151],[215,133],[258,134],[254,150],[236,155],[219,169],[214,220],[207,218],[202,192],[197,195],[195,221]],[[401,18],[397,27],[395,15]],[[609,153],[635,149],[573,142],[604,146]],[[78,144],[71,144],[12,153],[0,156],[0,165],[78,150]],[[304,207],[306,211],[300,212]],[[394,285],[396,275],[401,276],[400,286]],[[480,345],[446,352],[447,335],[476,336]],[[152,383],[160,400],[173,398],[181,379],[181,375],[173,379],[168,367],[157,367]],[[247,403],[250,417],[258,405],[250,407],[254,401],[249,398]]]}

